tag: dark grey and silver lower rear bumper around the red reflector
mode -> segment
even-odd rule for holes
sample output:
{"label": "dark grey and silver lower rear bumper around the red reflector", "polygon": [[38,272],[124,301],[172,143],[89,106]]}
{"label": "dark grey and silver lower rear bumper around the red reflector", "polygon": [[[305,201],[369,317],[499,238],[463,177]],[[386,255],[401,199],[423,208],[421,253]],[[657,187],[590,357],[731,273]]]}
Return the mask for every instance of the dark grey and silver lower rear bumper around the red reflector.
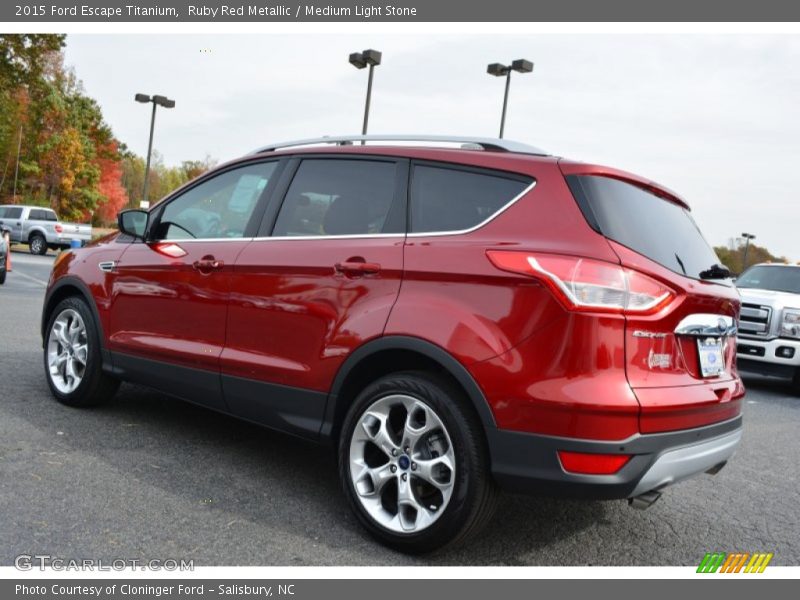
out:
{"label": "dark grey and silver lower rear bumper around the red reflector", "polygon": [[[594,499],[631,498],[724,464],[742,435],[742,417],[666,433],[637,434],[618,442],[577,440],[495,430],[489,436],[492,473],[516,492]],[[614,475],[566,472],[557,452],[632,455]]]}

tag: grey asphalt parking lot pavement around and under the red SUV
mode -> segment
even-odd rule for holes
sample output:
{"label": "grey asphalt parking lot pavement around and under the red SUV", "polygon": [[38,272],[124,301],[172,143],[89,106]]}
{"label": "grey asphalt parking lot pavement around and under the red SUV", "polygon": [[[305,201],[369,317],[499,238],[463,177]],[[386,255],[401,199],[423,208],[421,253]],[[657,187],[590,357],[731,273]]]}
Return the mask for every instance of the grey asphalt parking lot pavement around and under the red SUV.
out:
{"label": "grey asphalt parking lot pavement around and under the red SUV", "polygon": [[56,403],[39,316],[52,257],[15,253],[0,286],[0,564],[61,558],[206,565],[696,565],[708,551],[800,564],[800,397],[748,379],[742,446],[715,477],[624,502],[503,496],[470,546],[411,558],[367,538],[329,450],[123,385]]}

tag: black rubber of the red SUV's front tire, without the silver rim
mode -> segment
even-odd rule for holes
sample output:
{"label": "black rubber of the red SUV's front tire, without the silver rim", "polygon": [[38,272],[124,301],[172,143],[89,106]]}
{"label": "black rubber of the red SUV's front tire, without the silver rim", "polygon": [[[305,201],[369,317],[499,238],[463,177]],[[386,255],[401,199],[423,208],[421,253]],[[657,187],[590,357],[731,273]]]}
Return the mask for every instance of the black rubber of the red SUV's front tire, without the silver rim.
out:
{"label": "black rubber of the red SUV's front tire, without the silver rim", "polygon": [[[74,311],[80,315],[85,326],[85,343],[87,346],[86,365],[83,376],[75,389],[65,392],[58,388],[53,381],[50,365],[48,361],[48,348],[54,336],[53,325],[59,316],[66,314],[66,311]],[[111,377],[103,371],[102,358],[100,354],[100,335],[97,324],[94,321],[92,311],[86,301],[78,296],[65,298],[53,309],[47,319],[44,341],[44,370],[47,384],[53,396],[67,406],[88,407],[97,406],[111,400],[119,388],[119,380]]]}

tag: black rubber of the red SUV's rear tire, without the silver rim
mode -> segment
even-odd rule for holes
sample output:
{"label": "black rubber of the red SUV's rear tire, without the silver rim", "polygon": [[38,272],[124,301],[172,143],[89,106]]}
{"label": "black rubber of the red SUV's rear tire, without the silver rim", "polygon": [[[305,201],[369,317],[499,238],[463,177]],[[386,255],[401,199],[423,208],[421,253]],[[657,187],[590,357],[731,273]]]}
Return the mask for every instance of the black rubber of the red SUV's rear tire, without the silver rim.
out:
{"label": "black rubber of the red SUV's rear tire, without the silver rim", "polygon": [[[410,396],[432,409],[444,425],[454,451],[455,477],[449,503],[432,524],[419,532],[398,533],[373,518],[359,500],[351,477],[350,445],[355,428],[368,408],[392,395]],[[392,459],[388,460],[391,462]],[[491,477],[480,420],[458,386],[432,373],[402,372],[388,375],[367,386],[344,419],[339,436],[338,462],[345,495],[359,522],[375,539],[401,552],[423,554],[464,543],[483,529],[497,504],[497,487]],[[399,472],[400,467],[396,468]],[[411,486],[414,473],[407,471],[407,474]],[[400,485],[399,480],[395,485]]]}

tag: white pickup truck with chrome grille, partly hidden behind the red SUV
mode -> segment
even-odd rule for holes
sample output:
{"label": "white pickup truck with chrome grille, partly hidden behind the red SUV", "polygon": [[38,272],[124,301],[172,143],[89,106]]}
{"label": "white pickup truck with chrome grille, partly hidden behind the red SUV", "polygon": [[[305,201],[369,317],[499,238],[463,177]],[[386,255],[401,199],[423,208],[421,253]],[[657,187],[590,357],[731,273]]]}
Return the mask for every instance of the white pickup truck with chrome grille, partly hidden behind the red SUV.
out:
{"label": "white pickup truck with chrome grille, partly hidden behind the red SUV", "polygon": [[800,393],[800,266],[754,265],[736,287],[742,296],[739,370],[789,378]]}

